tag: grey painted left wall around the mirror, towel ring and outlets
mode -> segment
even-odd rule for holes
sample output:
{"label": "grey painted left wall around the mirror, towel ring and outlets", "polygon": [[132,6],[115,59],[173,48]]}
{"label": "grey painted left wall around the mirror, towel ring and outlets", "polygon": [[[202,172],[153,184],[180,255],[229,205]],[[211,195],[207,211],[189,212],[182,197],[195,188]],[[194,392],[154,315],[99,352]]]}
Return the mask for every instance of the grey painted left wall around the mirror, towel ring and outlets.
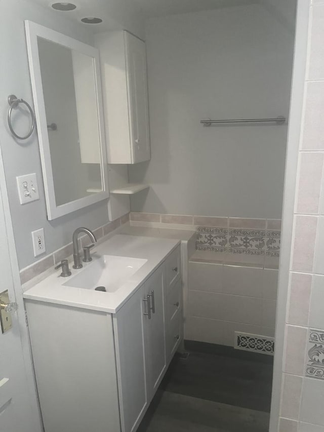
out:
{"label": "grey painted left wall around the mirror, towel ring and outlets", "polygon": [[[15,93],[32,105],[24,30],[25,19],[60,31],[82,42],[91,45],[93,43],[93,37],[86,26],[73,23],[65,19],[62,14],[51,11],[48,7],[43,8],[23,0],[2,0],[0,3],[0,100],[2,116],[0,144],[3,152],[20,268],[36,261],[32,252],[30,234],[32,230],[44,227],[47,253],[50,253],[69,243],[76,227],[85,225],[89,228],[95,228],[108,221],[106,201],[54,221],[48,221],[37,135],[34,133],[29,140],[17,142],[9,132],[6,118],[7,96]],[[23,133],[28,128],[26,119],[23,119],[21,124],[16,124],[16,128],[18,133]],[[37,174],[41,199],[21,206],[16,189],[16,176],[33,172]],[[37,257],[37,259],[39,258],[42,256]]]}

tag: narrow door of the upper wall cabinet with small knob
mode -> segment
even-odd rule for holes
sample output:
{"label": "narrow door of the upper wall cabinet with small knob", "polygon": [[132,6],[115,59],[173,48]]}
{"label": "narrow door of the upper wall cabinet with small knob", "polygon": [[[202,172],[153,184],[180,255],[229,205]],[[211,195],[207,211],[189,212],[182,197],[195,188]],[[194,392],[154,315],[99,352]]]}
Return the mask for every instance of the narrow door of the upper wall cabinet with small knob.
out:
{"label": "narrow door of the upper wall cabinet with small knob", "polygon": [[150,159],[146,53],[143,41],[125,32],[132,163]]}

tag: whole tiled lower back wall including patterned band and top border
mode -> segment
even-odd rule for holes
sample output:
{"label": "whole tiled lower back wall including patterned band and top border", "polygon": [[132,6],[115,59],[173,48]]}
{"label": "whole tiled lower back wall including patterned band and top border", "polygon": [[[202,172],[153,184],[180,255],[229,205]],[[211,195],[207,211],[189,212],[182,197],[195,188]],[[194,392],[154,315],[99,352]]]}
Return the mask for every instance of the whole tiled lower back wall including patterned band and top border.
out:
{"label": "whole tiled lower back wall including patterned band and top border", "polygon": [[281,221],[131,213],[131,224],[196,230],[185,338],[234,346],[234,332],[274,336]]}

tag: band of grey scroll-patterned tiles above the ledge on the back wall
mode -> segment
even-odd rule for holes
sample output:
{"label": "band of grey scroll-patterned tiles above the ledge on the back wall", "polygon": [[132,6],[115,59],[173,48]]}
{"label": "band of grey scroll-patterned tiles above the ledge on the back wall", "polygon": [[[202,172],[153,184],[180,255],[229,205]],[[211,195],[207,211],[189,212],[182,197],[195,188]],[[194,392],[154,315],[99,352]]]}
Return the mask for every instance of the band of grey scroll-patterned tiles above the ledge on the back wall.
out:
{"label": "band of grey scroll-patterned tiles above the ledge on the back wall", "polygon": [[280,231],[199,226],[196,249],[277,257],[280,252]]}

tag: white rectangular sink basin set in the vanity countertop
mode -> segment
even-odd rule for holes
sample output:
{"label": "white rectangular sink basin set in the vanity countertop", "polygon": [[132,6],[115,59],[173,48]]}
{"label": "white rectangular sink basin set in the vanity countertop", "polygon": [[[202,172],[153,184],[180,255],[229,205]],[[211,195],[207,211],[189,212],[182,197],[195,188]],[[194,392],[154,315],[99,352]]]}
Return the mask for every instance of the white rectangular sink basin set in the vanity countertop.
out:
{"label": "white rectangular sink basin set in the vanity countertop", "polygon": [[63,285],[88,290],[105,287],[106,292],[113,293],[146,262],[142,258],[103,255]]}

